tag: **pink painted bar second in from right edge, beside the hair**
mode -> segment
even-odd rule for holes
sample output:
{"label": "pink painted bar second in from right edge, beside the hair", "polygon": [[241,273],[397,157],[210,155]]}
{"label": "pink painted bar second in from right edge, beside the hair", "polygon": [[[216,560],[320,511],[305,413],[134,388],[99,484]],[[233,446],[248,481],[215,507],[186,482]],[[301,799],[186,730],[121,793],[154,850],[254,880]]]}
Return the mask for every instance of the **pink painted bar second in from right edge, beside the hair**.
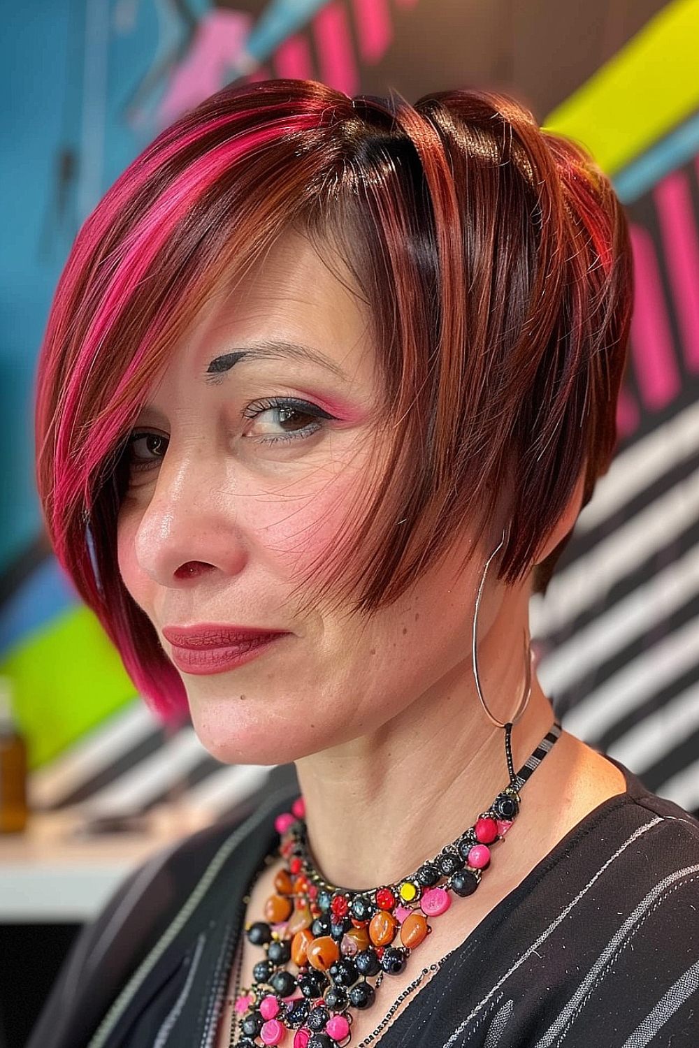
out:
{"label": "pink painted bar second in from right edge, beside the hair", "polygon": [[641,399],[658,411],[679,393],[677,361],[651,235],[632,225],[631,244],[636,269],[631,353]]}

